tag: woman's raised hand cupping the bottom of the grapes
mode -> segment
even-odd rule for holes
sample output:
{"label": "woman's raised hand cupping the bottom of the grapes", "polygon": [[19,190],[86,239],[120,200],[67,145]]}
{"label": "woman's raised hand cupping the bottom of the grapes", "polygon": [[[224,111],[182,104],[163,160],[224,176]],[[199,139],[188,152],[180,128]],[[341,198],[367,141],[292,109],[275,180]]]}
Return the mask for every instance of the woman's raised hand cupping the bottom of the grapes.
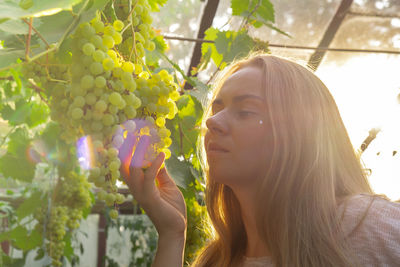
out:
{"label": "woman's raised hand cupping the bottom of the grapes", "polygon": [[119,154],[121,173],[129,190],[146,211],[160,236],[181,237],[186,231],[186,204],[174,180],[164,167],[161,168],[165,154],[160,153],[151,166],[143,171],[131,164],[132,159],[127,159],[132,155],[132,148],[133,144],[124,143]]}

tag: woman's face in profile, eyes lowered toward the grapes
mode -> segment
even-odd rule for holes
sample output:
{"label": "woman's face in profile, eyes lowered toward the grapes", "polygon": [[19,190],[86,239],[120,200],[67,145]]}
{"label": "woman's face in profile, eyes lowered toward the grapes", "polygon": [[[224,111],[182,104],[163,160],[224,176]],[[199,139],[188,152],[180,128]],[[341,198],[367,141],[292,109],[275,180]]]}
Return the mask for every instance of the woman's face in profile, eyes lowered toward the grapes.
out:
{"label": "woman's face in profile, eyes lowered toward the grapes", "polygon": [[260,69],[232,74],[212,103],[204,139],[210,179],[228,186],[249,185],[266,172],[272,148]]}

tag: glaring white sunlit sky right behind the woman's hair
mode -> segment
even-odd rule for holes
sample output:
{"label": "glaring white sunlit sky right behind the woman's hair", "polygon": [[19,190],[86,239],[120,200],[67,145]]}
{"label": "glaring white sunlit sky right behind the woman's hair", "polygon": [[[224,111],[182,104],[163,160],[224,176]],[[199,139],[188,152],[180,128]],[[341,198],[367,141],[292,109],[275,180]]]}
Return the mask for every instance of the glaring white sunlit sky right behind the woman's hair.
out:
{"label": "glaring white sunlit sky right behind the woman's hair", "polygon": [[322,64],[316,74],[334,96],[356,148],[369,130],[381,129],[362,160],[372,170],[375,192],[400,199],[400,56],[359,55],[340,66]]}

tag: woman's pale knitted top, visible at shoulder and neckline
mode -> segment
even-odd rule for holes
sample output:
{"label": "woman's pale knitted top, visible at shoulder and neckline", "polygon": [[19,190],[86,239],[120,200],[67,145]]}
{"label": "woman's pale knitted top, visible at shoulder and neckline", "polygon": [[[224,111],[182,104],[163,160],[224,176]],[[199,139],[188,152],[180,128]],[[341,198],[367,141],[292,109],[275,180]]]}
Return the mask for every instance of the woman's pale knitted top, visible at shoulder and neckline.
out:
{"label": "woman's pale knitted top, visible at shoulder and neckline", "polygon": [[[358,225],[369,205],[365,219]],[[340,214],[344,208],[343,231],[361,266],[400,266],[400,203],[357,195],[346,206],[339,206]],[[269,257],[245,257],[243,264],[243,267],[273,266]]]}

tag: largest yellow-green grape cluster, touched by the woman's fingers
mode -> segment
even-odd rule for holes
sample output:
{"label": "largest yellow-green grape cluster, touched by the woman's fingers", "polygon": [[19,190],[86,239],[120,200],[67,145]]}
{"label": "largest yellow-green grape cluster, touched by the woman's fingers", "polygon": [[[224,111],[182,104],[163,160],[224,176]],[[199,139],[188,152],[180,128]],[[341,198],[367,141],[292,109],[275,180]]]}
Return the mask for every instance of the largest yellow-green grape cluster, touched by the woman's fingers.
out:
{"label": "largest yellow-green grape cluster, touched by the woman's fingers", "polygon": [[[108,206],[124,201],[116,181],[122,181],[118,153],[126,133],[137,130],[138,137],[154,137],[147,162],[161,151],[168,158],[172,140],[165,121],[175,116],[179,98],[178,86],[166,70],[150,73],[143,60],[134,63],[120,53],[116,45],[131,43],[121,36],[124,25],[121,20],[103,22],[100,16],[79,25],[71,42],[71,83],[60,85],[63,93],[52,98],[52,118],[65,128],[61,138],[74,143],[82,135],[91,137],[96,160],[89,181],[100,188],[98,199]],[[138,121],[150,127],[136,128]]]}

